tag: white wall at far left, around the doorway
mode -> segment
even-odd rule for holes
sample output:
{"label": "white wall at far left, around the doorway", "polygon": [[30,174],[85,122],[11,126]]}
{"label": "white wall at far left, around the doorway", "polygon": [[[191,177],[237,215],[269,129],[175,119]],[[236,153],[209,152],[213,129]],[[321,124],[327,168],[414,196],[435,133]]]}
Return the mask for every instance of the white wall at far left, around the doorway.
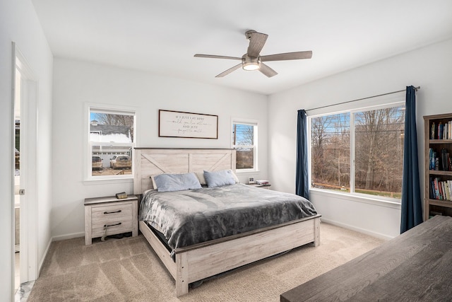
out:
{"label": "white wall at far left, around the doorway", "polygon": [[[52,128],[52,53],[44,37],[40,22],[29,0],[0,1],[0,166],[2,167],[0,181],[0,229],[2,239],[0,245],[0,297],[2,301],[13,301],[11,291],[12,253],[13,253],[13,153],[12,135],[12,47],[16,46],[27,59],[38,80],[39,122],[37,125],[37,146],[30,146],[29,152],[40,157],[40,162],[32,163],[37,173],[37,257],[42,259],[50,240],[49,216],[51,194],[52,149],[50,141]],[[38,260],[39,261],[39,260]]]}

